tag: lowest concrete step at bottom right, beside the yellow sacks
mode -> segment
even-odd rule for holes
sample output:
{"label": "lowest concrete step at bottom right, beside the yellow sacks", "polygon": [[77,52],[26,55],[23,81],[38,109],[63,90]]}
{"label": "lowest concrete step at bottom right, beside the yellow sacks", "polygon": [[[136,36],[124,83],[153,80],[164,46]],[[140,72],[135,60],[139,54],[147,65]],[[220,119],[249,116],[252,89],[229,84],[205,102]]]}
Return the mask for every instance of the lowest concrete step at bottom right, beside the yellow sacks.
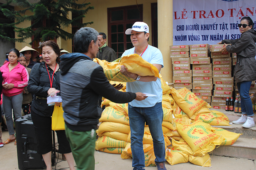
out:
{"label": "lowest concrete step at bottom right, beside the yellow sacks", "polygon": [[256,160],[256,139],[239,137],[233,145],[215,148],[212,154]]}

